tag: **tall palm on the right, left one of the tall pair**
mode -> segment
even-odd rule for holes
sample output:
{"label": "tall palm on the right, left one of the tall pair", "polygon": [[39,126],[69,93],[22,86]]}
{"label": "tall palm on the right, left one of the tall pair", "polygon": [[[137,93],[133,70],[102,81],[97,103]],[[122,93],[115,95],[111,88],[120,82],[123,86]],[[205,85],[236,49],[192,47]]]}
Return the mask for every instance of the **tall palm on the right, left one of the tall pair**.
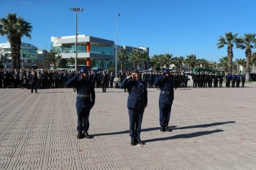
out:
{"label": "tall palm on the right, left one of the tall pair", "polygon": [[237,34],[232,34],[232,32],[225,33],[225,37],[219,36],[218,49],[221,49],[225,45],[227,45],[227,57],[229,59],[229,72],[232,72],[232,60],[233,60],[233,47],[234,44],[238,44],[239,39],[237,38]]}

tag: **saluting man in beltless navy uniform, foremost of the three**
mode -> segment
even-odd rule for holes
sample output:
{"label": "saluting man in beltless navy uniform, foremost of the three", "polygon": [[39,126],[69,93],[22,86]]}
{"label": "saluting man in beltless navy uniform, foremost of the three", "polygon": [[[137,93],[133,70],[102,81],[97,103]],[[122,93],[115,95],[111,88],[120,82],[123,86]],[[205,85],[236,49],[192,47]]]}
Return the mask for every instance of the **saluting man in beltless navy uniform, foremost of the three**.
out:
{"label": "saluting man in beltless navy uniform, foremost of the three", "polygon": [[147,85],[140,80],[139,70],[134,69],[132,75],[126,77],[120,88],[127,88],[128,100],[127,108],[129,112],[129,136],[131,137],[131,145],[137,143],[144,145],[140,139],[142,128],[142,118],[145,108],[147,107]]}

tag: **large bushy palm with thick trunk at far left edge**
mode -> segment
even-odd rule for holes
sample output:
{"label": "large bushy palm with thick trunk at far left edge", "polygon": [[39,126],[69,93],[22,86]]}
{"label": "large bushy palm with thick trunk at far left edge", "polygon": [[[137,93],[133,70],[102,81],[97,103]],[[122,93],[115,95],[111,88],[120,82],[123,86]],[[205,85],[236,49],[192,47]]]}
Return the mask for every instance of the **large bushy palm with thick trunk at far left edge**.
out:
{"label": "large bushy palm with thick trunk at far left edge", "polygon": [[16,13],[6,14],[6,18],[0,18],[0,34],[9,39],[12,50],[12,69],[20,68],[20,49],[22,37],[31,39],[32,26]]}

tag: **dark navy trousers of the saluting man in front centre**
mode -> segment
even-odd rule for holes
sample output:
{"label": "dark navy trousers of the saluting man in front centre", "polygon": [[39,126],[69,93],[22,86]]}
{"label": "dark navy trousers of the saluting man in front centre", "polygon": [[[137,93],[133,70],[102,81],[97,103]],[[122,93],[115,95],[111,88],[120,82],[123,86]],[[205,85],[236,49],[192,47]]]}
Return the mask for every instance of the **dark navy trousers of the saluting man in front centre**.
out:
{"label": "dark navy trousers of the saluting man in front centre", "polygon": [[144,109],[128,108],[128,112],[129,112],[129,136],[131,137],[132,140],[140,139]]}

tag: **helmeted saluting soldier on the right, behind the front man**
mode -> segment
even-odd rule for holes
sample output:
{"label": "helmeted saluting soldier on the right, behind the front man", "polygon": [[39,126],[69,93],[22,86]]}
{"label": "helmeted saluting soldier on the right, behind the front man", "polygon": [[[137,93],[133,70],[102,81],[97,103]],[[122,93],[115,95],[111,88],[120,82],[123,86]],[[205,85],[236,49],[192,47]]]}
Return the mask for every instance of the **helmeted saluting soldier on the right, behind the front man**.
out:
{"label": "helmeted saluting soldier on the right, behind the front man", "polygon": [[154,85],[159,85],[159,110],[160,110],[160,131],[172,131],[168,128],[170,121],[170,111],[174,100],[173,81],[168,78],[170,71],[163,70],[163,75],[155,80]]}

